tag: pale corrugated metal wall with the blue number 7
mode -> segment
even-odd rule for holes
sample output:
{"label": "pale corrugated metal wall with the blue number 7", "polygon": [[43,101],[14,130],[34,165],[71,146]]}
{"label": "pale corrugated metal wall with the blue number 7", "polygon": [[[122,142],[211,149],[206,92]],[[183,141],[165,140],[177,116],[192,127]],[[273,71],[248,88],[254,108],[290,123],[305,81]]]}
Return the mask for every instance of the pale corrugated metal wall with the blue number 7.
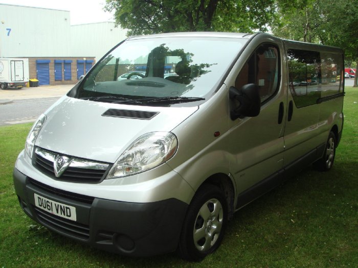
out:
{"label": "pale corrugated metal wall with the blue number 7", "polygon": [[70,28],[70,11],[0,4],[0,57],[70,55]]}

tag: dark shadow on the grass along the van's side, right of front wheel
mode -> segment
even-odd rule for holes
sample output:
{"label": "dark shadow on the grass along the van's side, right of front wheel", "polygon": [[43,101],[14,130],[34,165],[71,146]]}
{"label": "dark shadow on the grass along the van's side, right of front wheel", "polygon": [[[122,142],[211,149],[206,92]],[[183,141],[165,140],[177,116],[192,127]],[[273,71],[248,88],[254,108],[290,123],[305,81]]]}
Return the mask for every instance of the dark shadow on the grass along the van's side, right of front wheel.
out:
{"label": "dark shadow on the grass along the van's side, right of front wheel", "polygon": [[[282,207],[299,207],[307,209],[317,203],[337,205],[337,199],[356,200],[358,194],[357,163],[335,163],[328,172],[319,172],[312,166],[304,168],[296,176],[288,178],[283,184],[267,192],[251,204],[240,209],[233,222],[242,220],[242,215],[255,215]],[[333,197],[336,197],[333,199]],[[301,209],[306,209],[304,206]]]}

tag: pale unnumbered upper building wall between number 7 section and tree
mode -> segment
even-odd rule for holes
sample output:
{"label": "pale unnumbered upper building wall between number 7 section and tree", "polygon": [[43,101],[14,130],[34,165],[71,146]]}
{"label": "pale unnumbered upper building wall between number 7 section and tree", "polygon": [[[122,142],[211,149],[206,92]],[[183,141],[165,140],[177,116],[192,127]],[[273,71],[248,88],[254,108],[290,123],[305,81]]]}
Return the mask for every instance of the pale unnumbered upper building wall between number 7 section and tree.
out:
{"label": "pale unnumbered upper building wall between number 7 section and tree", "polygon": [[72,57],[89,55],[99,61],[112,47],[126,38],[126,30],[114,22],[88,23],[71,26]]}

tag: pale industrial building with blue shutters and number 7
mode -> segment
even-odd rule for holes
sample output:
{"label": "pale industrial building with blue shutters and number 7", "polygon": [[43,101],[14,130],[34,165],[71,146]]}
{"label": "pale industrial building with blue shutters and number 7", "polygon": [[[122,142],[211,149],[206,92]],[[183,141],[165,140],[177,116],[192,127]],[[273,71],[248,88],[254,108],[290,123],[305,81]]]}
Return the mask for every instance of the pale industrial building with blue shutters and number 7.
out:
{"label": "pale industrial building with blue shutters and number 7", "polygon": [[70,11],[0,4],[0,58],[28,58],[38,85],[77,83],[125,37],[114,22],[71,26]]}

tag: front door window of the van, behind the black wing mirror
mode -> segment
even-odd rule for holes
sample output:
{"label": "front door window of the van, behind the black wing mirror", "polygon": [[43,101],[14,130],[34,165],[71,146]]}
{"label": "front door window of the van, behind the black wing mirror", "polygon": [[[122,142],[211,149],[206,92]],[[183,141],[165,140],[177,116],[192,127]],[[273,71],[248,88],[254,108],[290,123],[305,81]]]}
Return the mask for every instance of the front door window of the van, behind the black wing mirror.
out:
{"label": "front door window of the van, behind the black wing mirror", "polygon": [[270,99],[278,89],[279,52],[273,44],[262,44],[251,55],[239,72],[235,87],[240,89],[246,84],[259,86],[261,103]]}

